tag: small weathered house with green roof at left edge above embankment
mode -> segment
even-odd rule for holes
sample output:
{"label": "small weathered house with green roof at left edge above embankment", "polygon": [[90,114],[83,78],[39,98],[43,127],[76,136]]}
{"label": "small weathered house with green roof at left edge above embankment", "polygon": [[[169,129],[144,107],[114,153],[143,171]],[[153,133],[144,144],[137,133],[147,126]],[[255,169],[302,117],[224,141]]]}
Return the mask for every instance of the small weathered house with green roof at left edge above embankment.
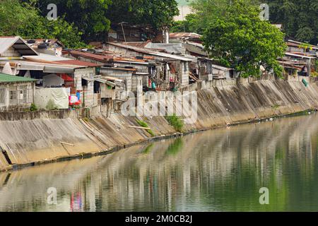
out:
{"label": "small weathered house with green roof at left edge above embankment", "polygon": [[0,110],[24,109],[34,102],[35,79],[0,73]]}

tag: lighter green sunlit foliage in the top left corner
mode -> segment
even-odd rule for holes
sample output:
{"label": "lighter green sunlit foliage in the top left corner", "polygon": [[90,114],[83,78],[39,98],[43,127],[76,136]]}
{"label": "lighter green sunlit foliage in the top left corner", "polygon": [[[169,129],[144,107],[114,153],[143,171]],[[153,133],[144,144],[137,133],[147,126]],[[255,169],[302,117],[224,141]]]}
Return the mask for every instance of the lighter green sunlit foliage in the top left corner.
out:
{"label": "lighter green sunlit foliage in the top left corner", "polygon": [[33,4],[18,0],[1,0],[0,35],[25,38],[58,38],[66,47],[83,47],[81,33],[63,18],[47,20]]}

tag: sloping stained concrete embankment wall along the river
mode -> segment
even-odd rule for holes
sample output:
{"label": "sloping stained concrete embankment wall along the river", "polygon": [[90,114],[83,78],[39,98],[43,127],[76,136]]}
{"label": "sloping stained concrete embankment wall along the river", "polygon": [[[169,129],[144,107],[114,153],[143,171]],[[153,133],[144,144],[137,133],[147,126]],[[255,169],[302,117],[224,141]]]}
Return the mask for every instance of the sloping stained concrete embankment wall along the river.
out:
{"label": "sloping stained concrete embankment wall along the river", "polygon": [[[198,120],[184,126],[184,131],[318,108],[317,83],[310,83],[307,88],[301,81],[204,85],[206,89],[198,91]],[[65,114],[58,119],[57,113],[48,117],[45,119],[45,113],[38,117],[25,114],[23,120],[16,121],[16,117],[1,114],[0,146],[4,151],[0,152],[0,170],[87,153],[95,155],[151,138],[147,131],[129,128],[139,126],[136,117],[122,114],[112,114],[110,118],[99,114],[90,120],[64,118]],[[143,117],[143,121],[156,136],[176,132],[164,117]]]}

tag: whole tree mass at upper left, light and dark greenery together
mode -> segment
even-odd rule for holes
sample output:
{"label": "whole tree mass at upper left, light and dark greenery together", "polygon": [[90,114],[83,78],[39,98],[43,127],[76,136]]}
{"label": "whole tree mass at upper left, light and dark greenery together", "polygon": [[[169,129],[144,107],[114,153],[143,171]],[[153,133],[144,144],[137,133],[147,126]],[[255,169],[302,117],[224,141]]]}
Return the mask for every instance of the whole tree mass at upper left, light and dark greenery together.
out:
{"label": "whole tree mass at upper left, light and dark greenery together", "polygon": [[[47,6],[57,5],[58,20],[47,20]],[[105,40],[111,23],[171,25],[175,0],[0,0],[0,35],[56,37],[67,47]]]}

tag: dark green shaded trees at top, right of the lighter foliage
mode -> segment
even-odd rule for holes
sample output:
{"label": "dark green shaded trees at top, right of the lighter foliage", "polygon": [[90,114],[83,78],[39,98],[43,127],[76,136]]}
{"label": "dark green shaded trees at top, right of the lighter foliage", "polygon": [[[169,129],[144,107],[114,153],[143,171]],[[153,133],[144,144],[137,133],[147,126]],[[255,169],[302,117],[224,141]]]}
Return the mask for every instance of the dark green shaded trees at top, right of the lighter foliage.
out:
{"label": "dark green shaded trees at top, right of the lighter foliage", "polygon": [[[35,0],[25,0],[35,1]],[[105,40],[110,25],[121,22],[150,25],[158,29],[171,25],[177,16],[175,0],[37,0],[46,16],[47,5],[56,4],[58,15],[76,25],[86,42]]]}

